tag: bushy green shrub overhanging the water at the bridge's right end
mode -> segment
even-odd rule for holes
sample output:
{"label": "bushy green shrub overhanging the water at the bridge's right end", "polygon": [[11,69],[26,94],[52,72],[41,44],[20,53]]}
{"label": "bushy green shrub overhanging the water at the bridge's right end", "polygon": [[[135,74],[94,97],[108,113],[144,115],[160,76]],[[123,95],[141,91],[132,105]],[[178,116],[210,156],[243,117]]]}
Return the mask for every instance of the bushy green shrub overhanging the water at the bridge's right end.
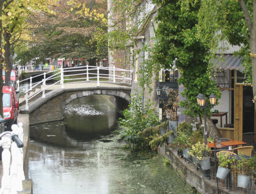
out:
{"label": "bushy green shrub overhanging the water at the bridge's right end", "polygon": [[138,132],[158,123],[157,114],[154,108],[151,108],[149,100],[143,106],[141,94],[132,96],[129,109],[125,109],[123,115],[124,119],[118,121],[119,125],[125,127],[120,131],[123,139],[129,142],[134,150],[146,148],[148,144],[143,137],[138,136]]}

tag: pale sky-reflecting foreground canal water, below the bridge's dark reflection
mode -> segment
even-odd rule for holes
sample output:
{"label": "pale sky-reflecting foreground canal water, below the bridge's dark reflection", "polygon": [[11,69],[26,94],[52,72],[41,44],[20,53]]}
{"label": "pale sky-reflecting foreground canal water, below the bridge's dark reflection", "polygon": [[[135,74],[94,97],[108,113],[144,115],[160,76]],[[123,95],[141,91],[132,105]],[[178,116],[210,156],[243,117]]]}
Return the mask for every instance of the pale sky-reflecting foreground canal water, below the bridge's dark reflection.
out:
{"label": "pale sky-reflecting foreground canal water, below the bridge's dark reflection", "polygon": [[157,155],[132,156],[124,142],[88,142],[87,148],[56,148],[30,143],[29,176],[34,194],[192,193]]}

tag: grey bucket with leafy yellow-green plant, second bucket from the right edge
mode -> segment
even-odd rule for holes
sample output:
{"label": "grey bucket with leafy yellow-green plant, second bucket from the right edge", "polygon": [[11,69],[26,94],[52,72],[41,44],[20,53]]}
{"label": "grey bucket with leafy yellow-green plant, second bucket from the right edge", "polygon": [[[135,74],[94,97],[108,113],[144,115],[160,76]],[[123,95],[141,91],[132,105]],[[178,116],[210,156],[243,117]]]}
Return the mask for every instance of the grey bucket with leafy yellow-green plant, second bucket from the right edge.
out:
{"label": "grey bucket with leafy yellow-green plant, second bucket from the right edge", "polygon": [[230,157],[230,153],[219,153],[218,154],[218,170],[216,173],[216,177],[219,179],[226,179],[227,175],[229,175],[230,167],[233,162],[235,162],[235,158]]}

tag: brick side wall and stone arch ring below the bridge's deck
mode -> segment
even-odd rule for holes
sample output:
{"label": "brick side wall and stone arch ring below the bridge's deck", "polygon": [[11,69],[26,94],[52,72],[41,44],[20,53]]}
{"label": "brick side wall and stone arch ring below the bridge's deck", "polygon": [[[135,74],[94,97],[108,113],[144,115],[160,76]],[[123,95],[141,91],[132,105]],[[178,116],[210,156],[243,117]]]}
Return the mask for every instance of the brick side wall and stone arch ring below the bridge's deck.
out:
{"label": "brick side wall and stone arch ring below the bridge's deck", "polygon": [[31,102],[29,110],[21,109],[21,113],[29,113],[30,125],[63,120],[66,105],[80,97],[90,95],[113,95],[116,97],[116,106],[127,106],[130,102],[130,90],[127,89],[92,89],[89,91],[72,91],[72,89],[59,89],[51,91],[44,99]]}

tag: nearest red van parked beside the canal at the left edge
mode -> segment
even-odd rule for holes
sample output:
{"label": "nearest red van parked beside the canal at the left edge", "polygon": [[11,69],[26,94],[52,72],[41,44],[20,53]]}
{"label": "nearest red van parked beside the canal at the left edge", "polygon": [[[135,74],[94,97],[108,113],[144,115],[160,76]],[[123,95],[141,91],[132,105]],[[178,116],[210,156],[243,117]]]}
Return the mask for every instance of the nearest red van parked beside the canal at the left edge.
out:
{"label": "nearest red van parked beside the canal at the left edge", "polygon": [[11,130],[12,124],[17,123],[19,108],[18,97],[13,86],[4,85],[2,87],[2,106],[6,121],[5,126],[7,126],[7,130]]}

